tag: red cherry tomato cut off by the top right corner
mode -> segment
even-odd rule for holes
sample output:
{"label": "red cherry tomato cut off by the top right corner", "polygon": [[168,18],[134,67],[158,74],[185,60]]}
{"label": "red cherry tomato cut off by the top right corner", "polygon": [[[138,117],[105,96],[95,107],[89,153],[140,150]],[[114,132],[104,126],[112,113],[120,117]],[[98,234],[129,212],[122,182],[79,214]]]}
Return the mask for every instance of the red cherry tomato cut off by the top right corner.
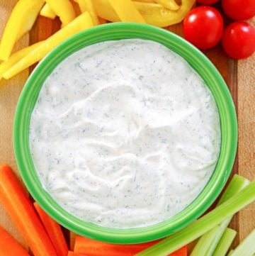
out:
{"label": "red cherry tomato cut off by the top right corner", "polygon": [[255,0],[222,0],[223,11],[237,21],[244,21],[255,16]]}

